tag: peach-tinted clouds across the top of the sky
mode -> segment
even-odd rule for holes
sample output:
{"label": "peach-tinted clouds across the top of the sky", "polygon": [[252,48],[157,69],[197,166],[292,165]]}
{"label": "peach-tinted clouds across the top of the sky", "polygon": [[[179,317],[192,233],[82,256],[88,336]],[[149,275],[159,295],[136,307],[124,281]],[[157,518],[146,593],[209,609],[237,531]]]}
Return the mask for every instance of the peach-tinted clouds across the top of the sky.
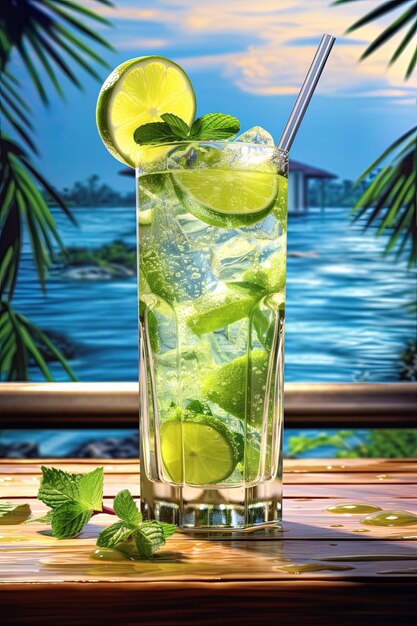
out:
{"label": "peach-tinted clouds across the top of the sky", "polygon": [[[410,99],[416,78],[404,82],[407,53],[387,69],[398,38],[394,37],[373,57],[359,63],[365,47],[391,19],[388,16],[358,31],[358,37],[345,35],[346,29],[359,17],[374,8],[374,2],[363,1],[331,7],[327,0],[149,0],[149,6],[132,5],[115,9],[101,6],[99,11],[112,20],[149,22],[163,37],[140,37],[123,42],[122,47],[153,49],[176,47],[181,42],[187,69],[215,69],[229,78],[242,91],[276,95],[297,93],[323,31],[337,36],[336,45],[320,81],[323,95],[347,97],[375,96]],[[356,6],[360,5],[360,6]],[[97,6],[95,6],[97,10]],[[138,25],[138,29],[140,26]],[[147,28],[148,34],[149,28]],[[210,53],[198,49],[204,39],[210,50],[221,48],[222,41],[233,35],[234,52]],[[148,45],[148,47],[146,47]],[[121,47],[121,46],[119,46]],[[190,54],[184,51],[190,50]]]}

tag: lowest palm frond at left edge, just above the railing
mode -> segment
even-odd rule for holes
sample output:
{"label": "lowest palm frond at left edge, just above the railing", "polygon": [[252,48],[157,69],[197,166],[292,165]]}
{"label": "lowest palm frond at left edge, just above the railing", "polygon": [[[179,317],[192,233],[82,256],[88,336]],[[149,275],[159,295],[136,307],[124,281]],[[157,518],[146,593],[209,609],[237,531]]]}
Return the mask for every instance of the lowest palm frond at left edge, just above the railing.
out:
{"label": "lowest palm frond at left edge, just above the railing", "polygon": [[44,353],[50,351],[71,380],[77,380],[62,352],[50,338],[27,317],[13,310],[10,302],[0,304],[1,378],[7,381],[28,380],[32,362],[48,381],[54,377]]}

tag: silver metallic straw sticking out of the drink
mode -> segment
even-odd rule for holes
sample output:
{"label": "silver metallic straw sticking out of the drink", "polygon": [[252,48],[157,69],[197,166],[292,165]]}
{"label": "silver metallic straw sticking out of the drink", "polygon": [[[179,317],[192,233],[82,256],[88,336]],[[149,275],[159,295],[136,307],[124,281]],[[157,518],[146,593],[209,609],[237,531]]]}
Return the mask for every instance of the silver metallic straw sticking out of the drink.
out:
{"label": "silver metallic straw sticking out of the drink", "polygon": [[295,101],[291,115],[288,118],[281,139],[278,142],[278,148],[280,150],[289,151],[291,148],[335,40],[336,38],[333,37],[333,35],[323,35],[321,38],[313,62],[310,65],[310,69],[304,79],[303,86]]}

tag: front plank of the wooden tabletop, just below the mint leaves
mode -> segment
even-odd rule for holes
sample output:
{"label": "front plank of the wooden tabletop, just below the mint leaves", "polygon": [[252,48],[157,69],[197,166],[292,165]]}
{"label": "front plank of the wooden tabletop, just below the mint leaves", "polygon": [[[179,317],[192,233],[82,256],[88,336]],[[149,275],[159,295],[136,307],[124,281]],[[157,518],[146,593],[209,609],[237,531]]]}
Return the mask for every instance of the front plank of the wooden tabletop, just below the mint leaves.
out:
{"label": "front plank of the wooden tabletop, just below the mint leaves", "polygon": [[[417,542],[361,540],[191,540],[174,535],[152,560],[96,560],[95,537],[2,544],[0,581],[27,583],[353,580],[401,575],[417,582]],[[417,590],[417,588],[416,588]]]}

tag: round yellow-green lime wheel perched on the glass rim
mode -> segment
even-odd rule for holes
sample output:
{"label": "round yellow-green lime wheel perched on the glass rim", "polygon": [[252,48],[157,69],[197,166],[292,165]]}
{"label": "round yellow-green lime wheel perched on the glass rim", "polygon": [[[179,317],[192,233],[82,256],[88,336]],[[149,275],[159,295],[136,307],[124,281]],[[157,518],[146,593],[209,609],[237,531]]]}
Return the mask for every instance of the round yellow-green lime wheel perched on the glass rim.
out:
{"label": "round yellow-green lime wheel perched on the glass rim", "polygon": [[164,57],[139,57],[125,61],[106,79],[97,101],[97,127],[107,150],[135,167],[141,151],[133,140],[138,126],[162,121],[163,113],[191,124],[195,109],[193,87],[179,65]]}

